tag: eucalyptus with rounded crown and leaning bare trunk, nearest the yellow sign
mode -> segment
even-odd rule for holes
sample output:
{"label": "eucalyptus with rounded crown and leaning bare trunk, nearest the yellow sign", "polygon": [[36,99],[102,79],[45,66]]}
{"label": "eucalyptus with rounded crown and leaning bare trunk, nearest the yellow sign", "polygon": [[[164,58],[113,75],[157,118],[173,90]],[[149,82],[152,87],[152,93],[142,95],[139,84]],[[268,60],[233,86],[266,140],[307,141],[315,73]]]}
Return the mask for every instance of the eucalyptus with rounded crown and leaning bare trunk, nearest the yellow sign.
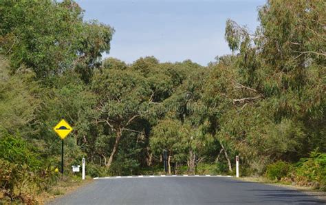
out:
{"label": "eucalyptus with rounded crown and leaning bare trunk, nearest the yellow sign", "polygon": [[136,120],[146,116],[151,90],[143,76],[129,69],[98,70],[94,75],[91,89],[97,95],[94,122],[114,133],[116,138],[107,161],[109,168],[118,151],[123,133],[142,134],[131,126]]}

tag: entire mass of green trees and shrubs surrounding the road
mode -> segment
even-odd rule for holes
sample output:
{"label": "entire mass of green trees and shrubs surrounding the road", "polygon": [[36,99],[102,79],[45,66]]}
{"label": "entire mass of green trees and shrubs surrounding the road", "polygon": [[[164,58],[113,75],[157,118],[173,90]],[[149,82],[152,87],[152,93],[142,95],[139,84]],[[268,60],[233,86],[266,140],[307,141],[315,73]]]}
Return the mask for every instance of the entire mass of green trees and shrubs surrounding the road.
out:
{"label": "entire mass of green trees and shrubs surrounding the road", "polygon": [[[74,1],[0,1],[0,186],[11,199],[87,174],[234,172],[326,186],[326,3],[268,1],[254,33],[226,21],[232,55],[101,59],[113,28],[83,21]],[[33,189],[34,190],[34,189]]]}

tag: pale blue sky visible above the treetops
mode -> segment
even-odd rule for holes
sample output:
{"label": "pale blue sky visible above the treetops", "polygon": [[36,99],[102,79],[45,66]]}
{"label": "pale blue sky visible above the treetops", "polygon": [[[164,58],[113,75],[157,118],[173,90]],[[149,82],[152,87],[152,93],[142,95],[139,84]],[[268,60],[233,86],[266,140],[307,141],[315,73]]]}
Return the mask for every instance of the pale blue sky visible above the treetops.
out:
{"label": "pale blue sky visible above the treetops", "polygon": [[115,30],[108,55],[132,63],[141,56],[160,62],[191,59],[201,65],[230,54],[226,19],[255,30],[265,0],[77,0],[85,20]]}

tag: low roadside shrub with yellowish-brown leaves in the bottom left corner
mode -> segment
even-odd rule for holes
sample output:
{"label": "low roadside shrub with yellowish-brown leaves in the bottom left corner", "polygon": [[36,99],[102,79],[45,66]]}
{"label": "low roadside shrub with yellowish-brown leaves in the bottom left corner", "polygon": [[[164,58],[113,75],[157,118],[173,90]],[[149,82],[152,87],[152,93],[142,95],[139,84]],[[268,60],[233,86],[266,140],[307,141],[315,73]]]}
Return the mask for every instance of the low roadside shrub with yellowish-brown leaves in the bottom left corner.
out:
{"label": "low roadside shrub with yellowish-brown leaves in the bottom left corner", "polygon": [[32,195],[47,186],[55,175],[47,169],[37,150],[19,137],[0,140],[0,188],[11,201],[32,202]]}

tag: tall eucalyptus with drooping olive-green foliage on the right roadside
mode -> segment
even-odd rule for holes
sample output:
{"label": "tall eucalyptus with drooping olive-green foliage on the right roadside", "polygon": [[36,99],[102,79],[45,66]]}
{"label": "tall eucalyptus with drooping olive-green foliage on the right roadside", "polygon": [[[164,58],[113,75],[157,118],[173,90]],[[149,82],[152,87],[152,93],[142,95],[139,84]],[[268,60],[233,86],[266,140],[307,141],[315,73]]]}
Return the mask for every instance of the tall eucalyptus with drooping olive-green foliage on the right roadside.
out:
{"label": "tall eucalyptus with drooping olive-green foliage on the right roadside", "polygon": [[230,49],[239,51],[235,77],[229,78],[234,92],[228,95],[232,116],[239,115],[230,122],[239,127],[227,123],[223,129],[238,143],[256,147],[258,158],[298,160],[325,147],[323,19],[324,1],[268,1],[259,9],[256,32],[226,23]]}

